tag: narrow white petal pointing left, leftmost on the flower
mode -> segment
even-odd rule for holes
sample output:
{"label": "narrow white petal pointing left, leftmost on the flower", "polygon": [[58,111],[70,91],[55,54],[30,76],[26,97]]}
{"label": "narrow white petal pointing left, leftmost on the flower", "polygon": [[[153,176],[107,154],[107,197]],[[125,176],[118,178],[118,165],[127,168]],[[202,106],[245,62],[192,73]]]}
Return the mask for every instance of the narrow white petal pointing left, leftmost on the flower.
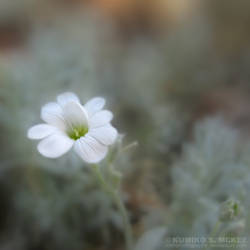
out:
{"label": "narrow white petal pointing left, leftmost on the flower", "polygon": [[43,139],[46,136],[51,135],[57,130],[56,127],[53,127],[48,124],[38,124],[33,127],[31,127],[28,130],[27,136],[30,139]]}

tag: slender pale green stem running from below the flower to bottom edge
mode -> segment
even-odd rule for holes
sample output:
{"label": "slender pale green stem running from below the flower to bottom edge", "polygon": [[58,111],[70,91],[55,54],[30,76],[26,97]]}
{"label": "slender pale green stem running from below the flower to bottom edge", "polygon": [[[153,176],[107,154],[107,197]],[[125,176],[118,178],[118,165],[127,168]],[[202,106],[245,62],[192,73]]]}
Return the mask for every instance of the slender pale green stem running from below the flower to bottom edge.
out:
{"label": "slender pale green stem running from below the flower to bottom edge", "polygon": [[91,169],[93,170],[93,173],[96,176],[100,185],[112,197],[118,210],[120,211],[121,216],[122,216],[122,220],[123,220],[126,248],[127,248],[127,250],[132,250],[132,245],[133,245],[132,229],[131,229],[131,225],[129,222],[127,210],[124,206],[122,199],[119,196],[119,192],[117,190],[113,189],[112,187],[110,187],[110,185],[106,182],[106,180],[103,178],[103,175],[102,175],[98,165],[91,166]]}

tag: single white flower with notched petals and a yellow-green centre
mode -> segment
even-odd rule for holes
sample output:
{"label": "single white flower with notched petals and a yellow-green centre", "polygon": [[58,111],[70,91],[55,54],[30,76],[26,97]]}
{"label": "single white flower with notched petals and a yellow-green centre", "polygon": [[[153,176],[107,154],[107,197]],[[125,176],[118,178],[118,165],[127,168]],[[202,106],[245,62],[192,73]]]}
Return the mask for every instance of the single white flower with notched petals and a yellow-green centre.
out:
{"label": "single white flower with notched petals and a yellow-green centre", "polygon": [[117,137],[117,130],[110,124],[113,114],[102,110],[104,105],[101,97],[82,105],[74,93],[63,93],[57,102],[42,107],[41,118],[46,123],[31,127],[27,136],[42,139],[37,149],[45,157],[60,157],[73,147],[84,161],[97,163]]}

